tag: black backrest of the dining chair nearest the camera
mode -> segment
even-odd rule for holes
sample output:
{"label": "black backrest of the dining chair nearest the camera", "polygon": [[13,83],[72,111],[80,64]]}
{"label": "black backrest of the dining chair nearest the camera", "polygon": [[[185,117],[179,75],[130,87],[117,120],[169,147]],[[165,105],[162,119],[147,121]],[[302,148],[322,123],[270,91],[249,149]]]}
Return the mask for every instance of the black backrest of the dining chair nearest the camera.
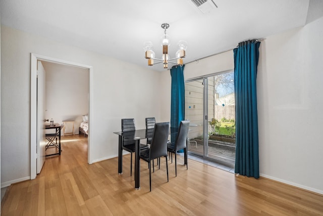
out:
{"label": "black backrest of the dining chair nearest the camera", "polygon": [[167,140],[170,132],[170,122],[155,123],[150,144],[150,160],[167,156]]}

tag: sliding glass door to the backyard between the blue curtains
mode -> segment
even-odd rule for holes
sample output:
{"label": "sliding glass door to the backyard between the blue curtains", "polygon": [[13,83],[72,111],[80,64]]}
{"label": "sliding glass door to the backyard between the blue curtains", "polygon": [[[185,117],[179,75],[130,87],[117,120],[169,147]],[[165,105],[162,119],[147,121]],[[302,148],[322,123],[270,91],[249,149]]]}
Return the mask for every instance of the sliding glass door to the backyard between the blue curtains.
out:
{"label": "sliding glass door to the backyard between the blue curtains", "polygon": [[233,78],[233,71],[229,71],[185,83],[189,153],[231,167],[235,162]]}

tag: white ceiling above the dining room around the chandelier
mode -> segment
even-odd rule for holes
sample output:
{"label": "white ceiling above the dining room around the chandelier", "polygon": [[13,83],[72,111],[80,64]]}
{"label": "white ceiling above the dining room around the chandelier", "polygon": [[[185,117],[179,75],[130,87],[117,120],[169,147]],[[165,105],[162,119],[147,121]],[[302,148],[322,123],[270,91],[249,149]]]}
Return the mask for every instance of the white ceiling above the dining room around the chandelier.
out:
{"label": "white ceiling above the dining room around the chandelier", "polygon": [[[309,0],[214,2],[218,8],[206,14],[191,0],[1,0],[0,8],[4,25],[149,67],[143,43],[151,40],[161,58],[162,23],[170,24],[171,57],[177,42],[187,41],[185,64],[303,26],[309,6]],[[152,69],[165,70],[161,64]]]}

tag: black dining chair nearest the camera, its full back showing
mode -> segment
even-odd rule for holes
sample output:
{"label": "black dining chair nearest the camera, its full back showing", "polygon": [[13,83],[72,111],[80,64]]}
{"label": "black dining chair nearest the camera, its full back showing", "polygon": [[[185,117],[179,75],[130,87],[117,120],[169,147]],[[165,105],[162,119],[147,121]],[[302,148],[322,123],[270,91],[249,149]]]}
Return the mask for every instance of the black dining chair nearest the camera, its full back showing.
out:
{"label": "black dining chair nearest the camera, its full back showing", "polygon": [[154,159],[157,159],[163,156],[166,158],[167,182],[169,181],[168,159],[167,159],[167,140],[169,135],[169,129],[170,129],[170,122],[155,123],[149,149],[144,149],[140,151],[140,158],[148,162],[150,191],[151,191],[151,160],[153,161]]}

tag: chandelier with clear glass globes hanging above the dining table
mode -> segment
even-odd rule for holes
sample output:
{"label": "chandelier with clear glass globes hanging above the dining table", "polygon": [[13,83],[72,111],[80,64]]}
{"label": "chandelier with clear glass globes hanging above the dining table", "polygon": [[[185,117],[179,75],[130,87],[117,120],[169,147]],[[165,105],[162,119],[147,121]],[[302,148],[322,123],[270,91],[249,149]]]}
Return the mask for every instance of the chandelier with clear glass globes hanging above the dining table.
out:
{"label": "chandelier with clear glass globes hanging above the dining table", "polygon": [[[153,46],[151,41],[144,42],[144,51],[145,58],[148,59],[148,65],[152,66],[154,64],[163,63],[164,68],[168,68],[168,63],[172,63],[175,65],[183,65],[183,58],[185,58],[185,50],[187,49],[187,42],[184,40],[180,40],[178,42],[178,51],[175,54],[175,58],[171,59],[168,54],[168,47],[170,46],[170,38],[168,34],[166,34],[166,29],[170,27],[170,24],[163,23],[161,24],[161,28],[164,29],[164,35],[161,37],[161,46],[163,46],[163,57],[161,59],[155,58],[155,53],[153,52]],[[154,60],[157,61],[154,63]]]}

